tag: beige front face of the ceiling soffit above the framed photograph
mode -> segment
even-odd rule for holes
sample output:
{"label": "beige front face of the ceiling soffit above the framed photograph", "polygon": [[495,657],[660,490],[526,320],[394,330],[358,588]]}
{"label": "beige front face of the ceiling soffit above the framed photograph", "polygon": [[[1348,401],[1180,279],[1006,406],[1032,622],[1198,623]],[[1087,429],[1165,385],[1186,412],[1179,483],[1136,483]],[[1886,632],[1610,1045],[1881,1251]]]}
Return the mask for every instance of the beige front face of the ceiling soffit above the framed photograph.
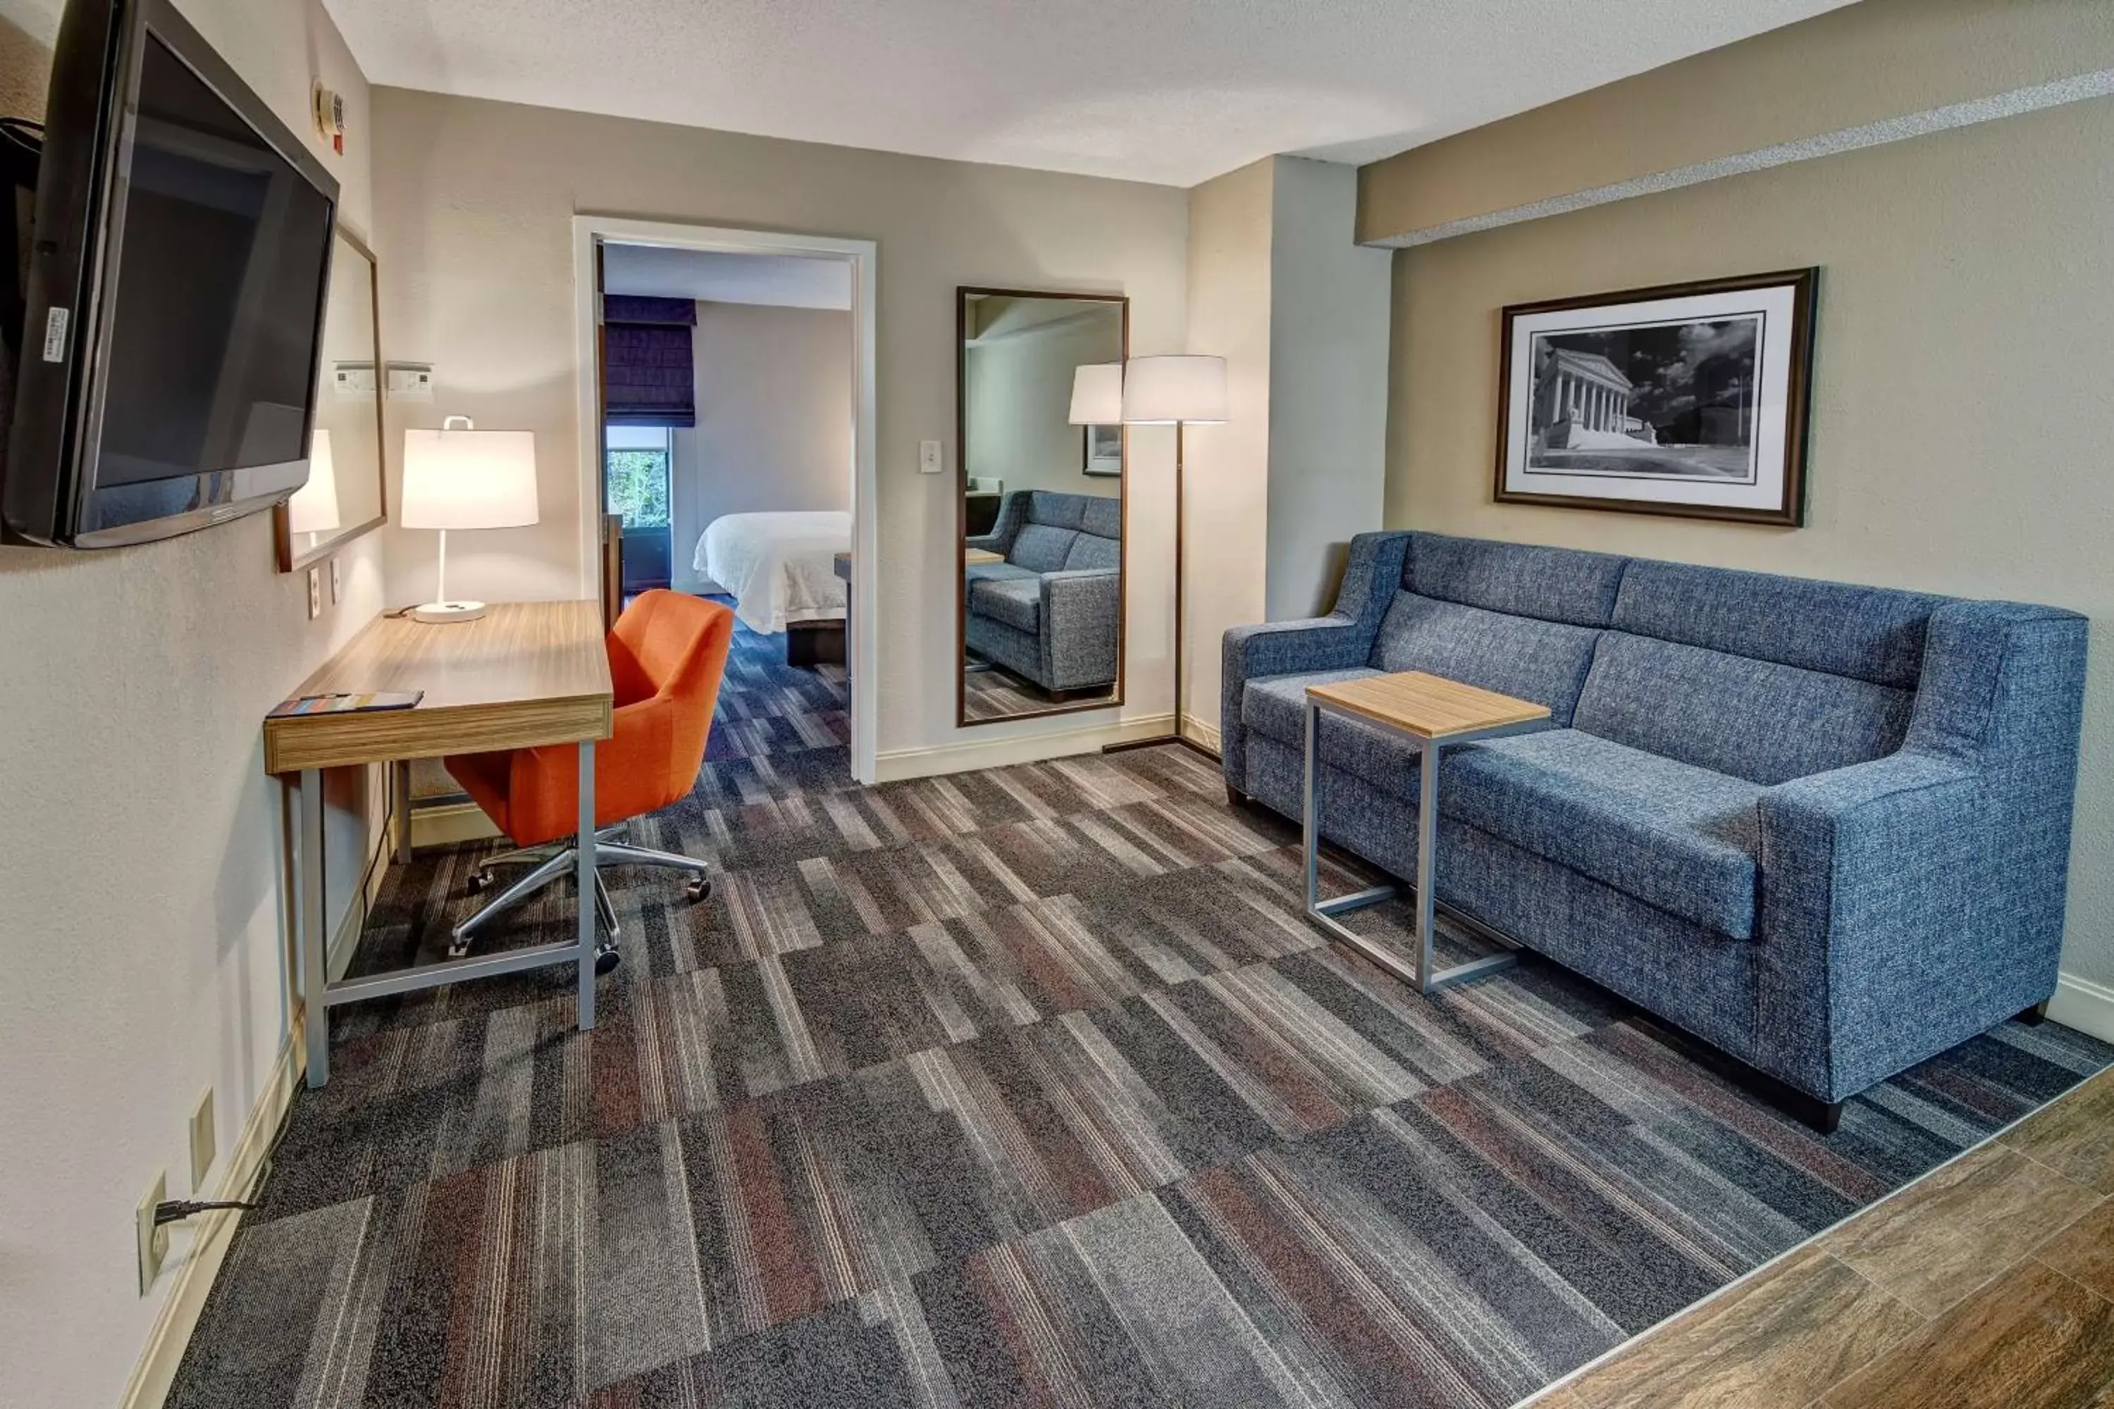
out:
{"label": "beige front face of the ceiling soffit above the framed photograph", "polygon": [[1359,171],[1361,241],[2114,68],[2108,0],[1862,0]]}

